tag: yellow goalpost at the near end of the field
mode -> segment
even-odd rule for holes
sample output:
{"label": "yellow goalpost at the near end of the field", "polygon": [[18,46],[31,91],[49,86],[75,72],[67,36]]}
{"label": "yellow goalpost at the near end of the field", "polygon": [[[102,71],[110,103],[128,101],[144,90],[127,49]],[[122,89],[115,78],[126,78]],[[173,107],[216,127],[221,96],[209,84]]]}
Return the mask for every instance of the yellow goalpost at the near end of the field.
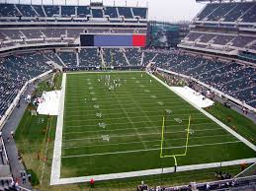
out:
{"label": "yellow goalpost at the near end of the field", "polygon": [[189,145],[189,137],[190,137],[190,122],[191,122],[191,115],[189,116],[189,123],[187,127],[187,137],[186,137],[186,145],[185,145],[185,151],[183,154],[176,154],[176,155],[163,155],[163,150],[165,149],[165,141],[164,141],[164,132],[165,132],[165,114],[163,115],[163,121],[162,121],[162,136],[161,136],[161,150],[160,150],[160,158],[173,158],[174,159],[174,172],[176,172],[177,169],[177,157],[186,157],[188,152],[188,145]]}

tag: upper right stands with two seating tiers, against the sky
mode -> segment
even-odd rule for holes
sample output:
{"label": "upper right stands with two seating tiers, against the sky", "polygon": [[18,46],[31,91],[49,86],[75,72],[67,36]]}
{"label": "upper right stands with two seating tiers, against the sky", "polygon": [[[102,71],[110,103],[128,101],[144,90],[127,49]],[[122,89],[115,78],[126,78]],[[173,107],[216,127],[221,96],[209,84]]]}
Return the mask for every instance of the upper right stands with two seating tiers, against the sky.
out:
{"label": "upper right stands with two seating tiers, against the sky", "polygon": [[239,55],[254,52],[256,2],[210,3],[194,19],[191,32],[179,47],[213,53]]}

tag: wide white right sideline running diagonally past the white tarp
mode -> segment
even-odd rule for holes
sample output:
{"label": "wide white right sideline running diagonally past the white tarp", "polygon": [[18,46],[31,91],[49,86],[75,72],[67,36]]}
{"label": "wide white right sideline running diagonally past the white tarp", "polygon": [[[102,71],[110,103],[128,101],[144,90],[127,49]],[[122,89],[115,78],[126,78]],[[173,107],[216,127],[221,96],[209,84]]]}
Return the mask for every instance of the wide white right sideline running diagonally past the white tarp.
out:
{"label": "wide white right sideline running diagonally past the white tarp", "polygon": [[206,110],[204,110],[203,108],[195,105],[193,102],[191,102],[189,99],[187,99],[186,97],[184,97],[183,95],[180,95],[178,92],[175,91],[175,89],[172,89],[171,87],[169,87],[167,84],[165,84],[164,82],[162,82],[160,79],[158,79],[157,77],[155,77],[152,74],[149,74],[152,78],[154,78],[155,80],[157,80],[159,83],[161,83],[163,86],[165,86],[166,88],[168,88],[169,90],[171,90],[172,92],[174,92],[176,95],[181,96],[183,99],[185,99],[187,102],[189,102],[190,104],[192,104],[195,108],[197,108],[198,110],[200,110],[202,113],[204,113],[207,117],[209,117],[210,119],[212,119],[216,124],[218,124],[220,127],[222,127],[224,130],[226,130],[227,132],[229,132],[230,134],[232,134],[234,137],[236,137],[238,140],[240,140],[241,142],[243,142],[245,145],[247,145],[249,148],[251,148],[253,151],[256,152],[256,146],[253,145],[251,142],[249,142],[248,140],[246,140],[244,137],[242,137],[241,135],[239,135],[238,133],[236,133],[235,131],[233,131],[230,127],[226,126],[225,124],[223,124],[221,121],[219,121],[218,119],[216,119],[215,117],[213,117],[212,114],[210,114],[209,112],[207,112]]}

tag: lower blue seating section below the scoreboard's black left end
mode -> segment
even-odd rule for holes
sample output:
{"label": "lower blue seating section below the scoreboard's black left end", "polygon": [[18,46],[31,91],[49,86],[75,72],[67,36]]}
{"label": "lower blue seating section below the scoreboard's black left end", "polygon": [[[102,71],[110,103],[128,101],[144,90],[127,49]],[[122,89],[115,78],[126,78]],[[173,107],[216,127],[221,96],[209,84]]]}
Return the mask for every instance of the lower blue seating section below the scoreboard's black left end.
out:
{"label": "lower blue seating section below the scoreboard's black left end", "polygon": [[79,53],[80,67],[96,67],[101,66],[101,59],[97,48],[81,49]]}

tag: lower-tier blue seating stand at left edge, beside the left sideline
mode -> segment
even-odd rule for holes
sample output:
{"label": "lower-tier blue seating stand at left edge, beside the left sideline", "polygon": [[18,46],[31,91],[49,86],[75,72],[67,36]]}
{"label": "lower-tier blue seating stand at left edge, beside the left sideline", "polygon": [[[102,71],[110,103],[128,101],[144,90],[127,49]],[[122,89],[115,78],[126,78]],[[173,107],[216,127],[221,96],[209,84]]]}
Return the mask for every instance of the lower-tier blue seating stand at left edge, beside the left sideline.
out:
{"label": "lower-tier blue seating stand at left edge, beside the left sideline", "polygon": [[12,55],[0,60],[0,116],[27,81],[51,69],[45,62],[46,58],[40,53]]}

